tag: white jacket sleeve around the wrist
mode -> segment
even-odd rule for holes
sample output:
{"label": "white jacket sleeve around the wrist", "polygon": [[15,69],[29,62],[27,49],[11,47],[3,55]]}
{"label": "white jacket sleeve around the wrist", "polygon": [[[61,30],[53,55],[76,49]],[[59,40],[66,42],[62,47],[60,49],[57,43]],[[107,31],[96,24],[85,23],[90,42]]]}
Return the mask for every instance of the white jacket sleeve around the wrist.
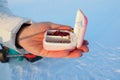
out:
{"label": "white jacket sleeve around the wrist", "polygon": [[31,21],[13,15],[7,8],[7,2],[0,0],[0,43],[18,52],[23,52],[23,49],[18,49],[15,46],[15,38],[16,33],[24,23],[31,24]]}

